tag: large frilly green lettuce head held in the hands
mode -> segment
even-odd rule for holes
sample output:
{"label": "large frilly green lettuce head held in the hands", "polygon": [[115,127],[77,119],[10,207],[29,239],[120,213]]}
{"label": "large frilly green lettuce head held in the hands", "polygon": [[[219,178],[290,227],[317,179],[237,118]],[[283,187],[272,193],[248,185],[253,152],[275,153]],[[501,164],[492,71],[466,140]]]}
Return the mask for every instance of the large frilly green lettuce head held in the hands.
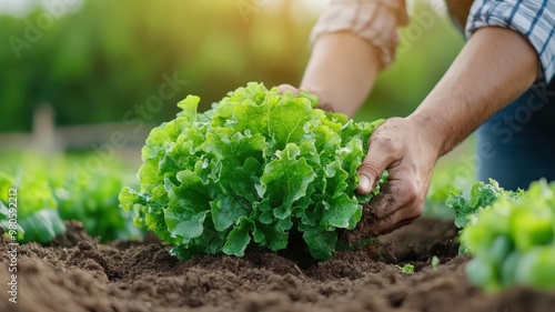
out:
{"label": "large frilly green lettuce head held in the hands", "polygon": [[[377,122],[316,109],[313,94],[249,83],[198,112],[189,95],[142,149],[140,190],[120,204],[188,259],[241,256],[250,243],[281,250],[302,234],[316,260],[332,255],[337,229],[361,220],[356,169]],[[376,191],[377,192],[377,191]]]}

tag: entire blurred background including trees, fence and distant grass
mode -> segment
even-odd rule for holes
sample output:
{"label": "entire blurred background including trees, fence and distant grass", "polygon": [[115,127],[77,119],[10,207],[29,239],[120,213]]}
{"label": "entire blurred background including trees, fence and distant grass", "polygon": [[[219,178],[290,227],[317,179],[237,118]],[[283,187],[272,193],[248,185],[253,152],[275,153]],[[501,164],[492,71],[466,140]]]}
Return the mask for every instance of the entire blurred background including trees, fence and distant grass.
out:
{"label": "entire blurred background including trees, fence and distant grass", "polygon": [[[63,153],[75,177],[134,174],[145,135],[188,94],[204,110],[249,81],[297,84],[327,2],[0,0],[0,171],[31,151]],[[442,0],[408,1],[408,14],[356,120],[407,115],[464,43]],[[434,184],[473,179],[471,152],[472,140],[442,160]]]}

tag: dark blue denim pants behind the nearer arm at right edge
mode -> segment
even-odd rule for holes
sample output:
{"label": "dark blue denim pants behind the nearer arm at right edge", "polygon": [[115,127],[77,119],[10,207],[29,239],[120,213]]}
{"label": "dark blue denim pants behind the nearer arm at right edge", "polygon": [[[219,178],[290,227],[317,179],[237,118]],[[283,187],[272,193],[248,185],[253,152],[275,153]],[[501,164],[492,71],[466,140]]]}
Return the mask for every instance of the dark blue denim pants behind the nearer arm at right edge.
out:
{"label": "dark blue denim pants behind the nearer arm at right edge", "polygon": [[500,185],[527,189],[541,178],[555,181],[555,79],[533,87],[477,131],[477,173]]}

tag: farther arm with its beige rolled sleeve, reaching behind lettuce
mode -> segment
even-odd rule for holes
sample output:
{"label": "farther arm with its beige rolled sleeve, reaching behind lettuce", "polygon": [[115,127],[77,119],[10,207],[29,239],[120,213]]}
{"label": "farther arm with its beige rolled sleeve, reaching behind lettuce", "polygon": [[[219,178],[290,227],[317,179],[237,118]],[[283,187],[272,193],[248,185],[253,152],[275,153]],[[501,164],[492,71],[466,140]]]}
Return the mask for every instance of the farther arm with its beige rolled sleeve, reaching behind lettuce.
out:
{"label": "farther arm with its beige rolled sleeve, reaching behind lettuce", "polygon": [[[379,71],[394,59],[397,28],[406,19],[404,0],[332,1],[312,30],[300,89],[315,93],[322,109],[353,117]],[[297,91],[289,84],[280,89]]]}

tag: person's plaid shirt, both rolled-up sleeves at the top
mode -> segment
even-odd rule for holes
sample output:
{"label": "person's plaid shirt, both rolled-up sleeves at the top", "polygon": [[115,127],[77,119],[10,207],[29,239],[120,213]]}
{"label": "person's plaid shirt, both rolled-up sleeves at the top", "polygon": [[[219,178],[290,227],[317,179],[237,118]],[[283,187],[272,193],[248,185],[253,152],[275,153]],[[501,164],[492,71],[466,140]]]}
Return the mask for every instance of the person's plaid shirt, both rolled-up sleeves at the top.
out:
{"label": "person's plaid shirt, both rolled-up sleeves at the top", "polygon": [[[352,31],[374,44],[383,67],[395,56],[397,27],[407,22],[404,0],[333,0],[311,34],[314,42],[323,33]],[[522,33],[539,59],[539,81],[555,76],[554,0],[475,0],[466,21],[468,39],[483,27],[504,27]]]}

